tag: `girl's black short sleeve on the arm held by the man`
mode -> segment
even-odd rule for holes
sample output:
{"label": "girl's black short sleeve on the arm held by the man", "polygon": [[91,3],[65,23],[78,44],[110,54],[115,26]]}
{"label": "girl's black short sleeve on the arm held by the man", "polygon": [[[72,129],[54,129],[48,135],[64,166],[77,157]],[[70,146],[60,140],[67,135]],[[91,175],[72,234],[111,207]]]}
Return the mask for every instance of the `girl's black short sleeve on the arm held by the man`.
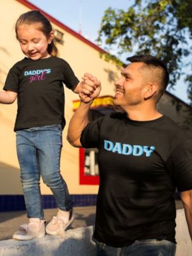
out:
{"label": "girl's black short sleeve on the arm held by the man", "polygon": [[79,79],[74,74],[74,71],[70,67],[70,65],[65,61],[64,68],[64,80],[63,82],[67,86],[67,88],[74,90],[79,83]]}

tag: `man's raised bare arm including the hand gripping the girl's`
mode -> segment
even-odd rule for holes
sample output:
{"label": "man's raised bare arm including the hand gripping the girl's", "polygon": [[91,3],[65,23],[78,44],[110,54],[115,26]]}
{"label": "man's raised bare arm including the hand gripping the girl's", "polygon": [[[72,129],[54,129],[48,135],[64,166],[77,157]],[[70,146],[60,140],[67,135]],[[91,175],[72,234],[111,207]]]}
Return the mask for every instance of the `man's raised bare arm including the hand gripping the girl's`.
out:
{"label": "man's raised bare arm including the hand gripping the girl's", "polygon": [[100,81],[94,77],[94,79],[89,79],[91,75],[86,74],[83,81],[83,87],[93,86],[94,91],[90,95],[86,95],[84,93],[79,93],[79,97],[81,98],[81,104],[79,108],[77,108],[76,112],[72,116],[70,123],[68,125],[68,133],[67,140],[74,147],[82,147],[81,145],[81,132],[84,127],[88,124],[88,111],[90,106],[92,105],[93,99],[95,99],[100,93]]}

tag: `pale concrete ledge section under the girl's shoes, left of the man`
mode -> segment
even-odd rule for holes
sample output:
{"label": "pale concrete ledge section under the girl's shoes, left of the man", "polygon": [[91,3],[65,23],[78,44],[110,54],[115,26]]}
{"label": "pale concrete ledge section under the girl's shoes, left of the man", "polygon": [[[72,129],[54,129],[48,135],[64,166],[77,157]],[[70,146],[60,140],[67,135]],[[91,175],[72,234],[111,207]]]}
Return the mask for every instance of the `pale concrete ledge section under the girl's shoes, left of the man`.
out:
{"label": "pale concrete ledge section under the girl's shoes, left of the man", "polygon": [[31,241],[0,241],[0,256],[83,256],[95,255],[93,227],[70,229],[65,239],[45,236]]}

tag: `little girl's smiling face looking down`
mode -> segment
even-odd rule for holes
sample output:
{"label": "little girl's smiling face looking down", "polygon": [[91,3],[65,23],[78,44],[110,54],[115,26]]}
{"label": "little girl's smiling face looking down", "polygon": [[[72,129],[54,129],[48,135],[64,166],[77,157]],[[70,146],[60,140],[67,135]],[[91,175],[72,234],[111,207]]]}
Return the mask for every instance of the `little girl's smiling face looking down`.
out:
{"label": "little girl's smiling face looking down", "polygon": [[49,36],[45,36],[40,30],[42,24],[22,24],[17,29],[17,38],[20,43],[22,52],[31,60],[39,60],[48,58],[50,54],[47,52],[48,44],[51,44],[54,33],[51,31]]}

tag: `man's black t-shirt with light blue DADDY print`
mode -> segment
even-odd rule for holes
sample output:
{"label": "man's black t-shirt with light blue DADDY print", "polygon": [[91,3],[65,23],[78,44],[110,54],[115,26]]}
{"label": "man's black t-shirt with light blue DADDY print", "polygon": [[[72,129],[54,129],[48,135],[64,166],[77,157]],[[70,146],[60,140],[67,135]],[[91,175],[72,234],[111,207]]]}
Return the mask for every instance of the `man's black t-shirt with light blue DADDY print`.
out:
{"label": "man's black t-shirt with light blue DADDY print", "polygon": [[175,242],[175,189],[192,189],[192,141],[166,116],[132,121],[113,113],[88,124],[85,148],[99,148],[94,237],[123,247],[137,239]]}

